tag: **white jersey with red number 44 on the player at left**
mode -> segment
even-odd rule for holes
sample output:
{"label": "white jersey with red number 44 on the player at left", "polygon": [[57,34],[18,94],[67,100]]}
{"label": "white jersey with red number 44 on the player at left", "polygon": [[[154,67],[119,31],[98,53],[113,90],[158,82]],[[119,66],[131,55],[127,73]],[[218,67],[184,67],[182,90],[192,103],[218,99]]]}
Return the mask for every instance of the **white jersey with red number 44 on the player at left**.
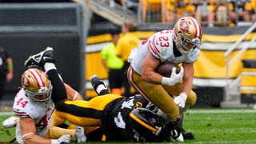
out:
{"label": "white jersey with red number 44 on the player at left", "polygon": [[32,118],[35,123],[36,134],[45,138],[50,129],[50,120],[51,114],[54,111],[54,102],[50,101],[46,106],[38,105],[35,102],[31,102],[30,98],[26,97],[25,91],[22,89],[19,90],[14,98],[13,110],[14,114],[19,117],[16,125],[16,139],[18,143],[24,143],[20,130],[20,118]]}

